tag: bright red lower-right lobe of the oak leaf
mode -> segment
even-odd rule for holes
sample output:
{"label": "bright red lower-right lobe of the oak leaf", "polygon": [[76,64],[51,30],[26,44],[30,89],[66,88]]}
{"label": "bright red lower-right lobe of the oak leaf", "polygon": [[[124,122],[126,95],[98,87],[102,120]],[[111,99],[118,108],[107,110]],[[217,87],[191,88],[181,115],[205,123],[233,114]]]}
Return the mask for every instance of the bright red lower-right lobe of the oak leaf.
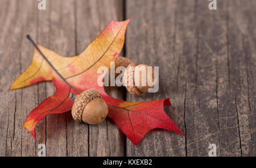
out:
{"label": "bright red lower-right lobe of the oak leaf", "polygon": [[135,144],[139,144],[144,135],[154,128],[168,129],[184,135],[164,112],[164,105],[171,106],[170,99],[148,102],[125,102],[102,95],[108,104],[109,114],[122,132]]}

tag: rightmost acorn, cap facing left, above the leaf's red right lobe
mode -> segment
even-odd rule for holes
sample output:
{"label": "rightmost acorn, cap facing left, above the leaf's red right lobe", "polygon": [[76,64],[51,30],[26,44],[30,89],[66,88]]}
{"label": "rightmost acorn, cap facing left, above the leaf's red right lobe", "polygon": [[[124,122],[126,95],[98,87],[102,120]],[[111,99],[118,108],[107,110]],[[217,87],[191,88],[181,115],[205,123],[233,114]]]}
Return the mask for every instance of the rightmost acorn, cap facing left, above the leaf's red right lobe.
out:
{"label": "rightmost acorn, cap facing left, above the leaf's red right lobe", "polygon": [[[142,74],[142,71],[139,71],[139,75],[135,75],[135,68],[146,68],[146,72]],[[155,77],[155,70],[152,68],[151,72],[147,69],[148,65],[131,63],[126,67],[126,70],[123,74],[123,82],[130,94],[135,96],[142,96],[144,93],[148,92],[148,89],[154,88],[156,81],[158,80]],[[153,86],[148,86],[147,77],[151,76],[152,81],[154,82]],[[142,86],[142,81],[146,81],[146,86]],[[139,85],[135,86],[135,81],[139,81]]]}

